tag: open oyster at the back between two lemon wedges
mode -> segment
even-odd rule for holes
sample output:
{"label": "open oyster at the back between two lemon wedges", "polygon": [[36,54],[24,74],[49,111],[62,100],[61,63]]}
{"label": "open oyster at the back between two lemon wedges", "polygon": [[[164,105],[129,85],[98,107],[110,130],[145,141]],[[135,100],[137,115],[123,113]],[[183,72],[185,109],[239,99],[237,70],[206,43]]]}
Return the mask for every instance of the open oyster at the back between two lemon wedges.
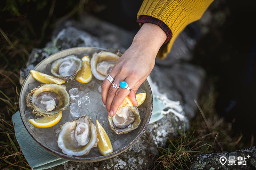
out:
{"label": "open oyster at the back between two lemon wedges", "polygon": [[51,73],[63,80],[72,80],[82,68],[82,60],[75,55],[69,55],[55,60],[51,66]]}

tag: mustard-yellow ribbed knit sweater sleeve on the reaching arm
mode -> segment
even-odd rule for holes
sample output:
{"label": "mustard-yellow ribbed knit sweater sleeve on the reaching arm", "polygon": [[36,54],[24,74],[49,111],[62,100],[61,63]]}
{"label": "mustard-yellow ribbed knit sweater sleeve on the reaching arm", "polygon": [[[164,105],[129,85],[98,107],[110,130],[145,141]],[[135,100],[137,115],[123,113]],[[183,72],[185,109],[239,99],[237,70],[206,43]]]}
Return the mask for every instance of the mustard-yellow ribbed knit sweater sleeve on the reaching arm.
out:
{"label": "mustard-yellow ribbed knit sweater sleeve on the reaching arm", "polygon": [[164,59],[180,32],[191,22],[200,19],[213,0],[144,0],[137,14],[163,21],[172,31],[172,38],[163,45],[157,57]]}

